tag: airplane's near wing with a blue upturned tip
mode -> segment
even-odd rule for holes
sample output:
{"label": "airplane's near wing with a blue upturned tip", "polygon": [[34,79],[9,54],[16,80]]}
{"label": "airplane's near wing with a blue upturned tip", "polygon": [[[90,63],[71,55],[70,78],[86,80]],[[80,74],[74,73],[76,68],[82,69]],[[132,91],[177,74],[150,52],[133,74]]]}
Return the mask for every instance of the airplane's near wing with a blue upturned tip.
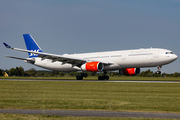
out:
{"label": "airplane's near wing with a blue upturned tip", "polygon": [[[52,62],[60,61],[62,62],[62,64],[68,63],[68,64],[72,64],[72,66],[78,66],[78,67],[81,67],[81,65],[86,62],[90,62],[86,59],[79,59],[79,58],[69,57],[66,55],[56,55],[56,54],[50,54],[50,53],[44,53],[44,52],[29,51],[29,50],[24,50],[24,49],[19,49],[19,48],[13,48],[6,43],[3,43],[3,44],[6,46],[6,48],[9,48],[9,49],[37,54],[38,55],[37,57],[42,58],[42,60],[51,59]],[[91,60],[91,61],[97,61],[97,60]],[[103,62],[103,61],[100,61],[100,62],[104,64],[111,64],[109,62]]]}

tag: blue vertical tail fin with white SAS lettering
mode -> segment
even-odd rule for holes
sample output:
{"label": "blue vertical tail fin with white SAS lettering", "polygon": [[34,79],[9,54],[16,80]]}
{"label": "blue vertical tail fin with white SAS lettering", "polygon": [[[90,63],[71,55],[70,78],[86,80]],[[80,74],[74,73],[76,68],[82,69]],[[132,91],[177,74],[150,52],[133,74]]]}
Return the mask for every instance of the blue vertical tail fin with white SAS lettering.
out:
{"label": "blue vertical tail fin with white SAS lettering", "polygon": [[[23,34],[24,41],[26,43],[27,50],[35,52],[43,52],[36,41],[32,38],[30,34]],[[29,58],[37,57],[37,54],[28,53]]]}

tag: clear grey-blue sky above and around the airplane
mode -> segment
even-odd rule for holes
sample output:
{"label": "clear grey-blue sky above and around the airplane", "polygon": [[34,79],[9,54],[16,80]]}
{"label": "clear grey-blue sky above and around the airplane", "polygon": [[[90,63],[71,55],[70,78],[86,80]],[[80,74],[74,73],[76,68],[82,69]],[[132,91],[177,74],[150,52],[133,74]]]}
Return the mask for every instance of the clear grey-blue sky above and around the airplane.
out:
{"label": "clear grey-blue sky above and around the airplane", "polygon": [[[180,56],[180,0],[1,0],[0,69],[42,70],[4,57],[28,57],[3,45],[26,49],[22,35],[27,33],[46,53],[152,47]],[[157,70],[142,70],[147,69]],[[180,60],[163,66],[162,72],[180,72]]]}

